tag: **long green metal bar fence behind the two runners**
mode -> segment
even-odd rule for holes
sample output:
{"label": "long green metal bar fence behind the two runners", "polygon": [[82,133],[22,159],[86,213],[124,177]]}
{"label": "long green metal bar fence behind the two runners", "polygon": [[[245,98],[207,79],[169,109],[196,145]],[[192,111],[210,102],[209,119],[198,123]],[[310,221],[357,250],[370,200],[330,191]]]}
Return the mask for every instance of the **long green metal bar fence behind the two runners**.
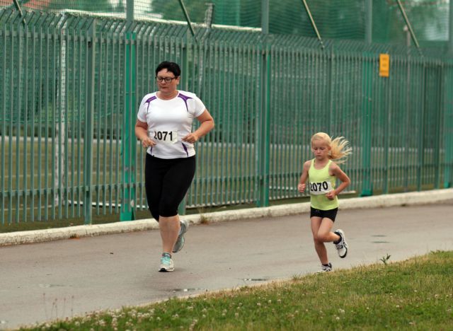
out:
{"label": "long green metal bar fence behind the two runners", "polygon": [[[163,60],[216,128],[187,208],[301,197],[309,139],[346,137],[358,194],[451,187],[453,62],[441,54],[260,30],[0,11],[1,223],[146,209],[138,103]],[[196,39],[195,39],[196,38]],[[389,78],[379,54],[390,55]]]}

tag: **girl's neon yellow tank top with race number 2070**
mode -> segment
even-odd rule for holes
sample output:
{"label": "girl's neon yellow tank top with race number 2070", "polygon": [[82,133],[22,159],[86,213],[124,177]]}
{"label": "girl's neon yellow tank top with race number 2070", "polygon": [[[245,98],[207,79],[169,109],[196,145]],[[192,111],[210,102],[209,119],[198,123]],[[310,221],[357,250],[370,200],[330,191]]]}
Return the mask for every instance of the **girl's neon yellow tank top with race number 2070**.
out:
{"label": "girl's neon yellow tank top with race number 2070", "polygon": [[328,168],[332,161],[329,160],[326,166],[322,169],[314,168],[315,159],[311,160],[309,168],[309,190],[311,207],[320,210],[330,210],[338,208],[338,199],[335,197],[329,200],[326,197],[327,192],[335,190],[336,177],[328,173]]}

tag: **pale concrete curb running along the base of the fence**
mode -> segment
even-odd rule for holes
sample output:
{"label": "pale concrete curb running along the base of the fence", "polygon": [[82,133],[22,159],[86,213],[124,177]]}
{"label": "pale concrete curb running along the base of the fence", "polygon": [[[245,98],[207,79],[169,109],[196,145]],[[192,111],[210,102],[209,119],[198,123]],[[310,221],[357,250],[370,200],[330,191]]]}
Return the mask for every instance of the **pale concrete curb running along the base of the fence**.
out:
{"label": "pale concrete curb running along the base of the fence", "polygon": [[[341,199],[340,209],[362,209],[378,207],[394,207],[414,204],[430,204],[453,199],[453,188],[444,190],[430,190],[423,192],[408,192],[398,194],[382,194],[373,197],[358,197]],[[258,219],[261,217],[289,216],[307,213],[310,210],[309,202],[300,204],[284,204],[281,206],[239,209],[234,211],[217,211],[206,214],[184,216],[190,223],[217,223],[239,219]],[[113,233],[132,231],[146,231],[159,228],[154,219],[139,221],[116,222],[88,226],[71,226],[67,228],[52,228],[37,231],[20,231],[0,233],[0,246],[20,245],[24,243],[42,243],[51,240],[101,236]]]}

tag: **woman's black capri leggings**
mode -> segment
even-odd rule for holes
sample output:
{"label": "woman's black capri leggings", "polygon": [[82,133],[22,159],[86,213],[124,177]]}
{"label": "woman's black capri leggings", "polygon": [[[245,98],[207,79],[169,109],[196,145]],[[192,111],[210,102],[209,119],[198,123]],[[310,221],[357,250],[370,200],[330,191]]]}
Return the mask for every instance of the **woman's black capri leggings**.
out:
{"label": "woman's black capri leggings", "polygon": [[195,156],[166,159],[147,153],[144,172],[151,215],[156,221],[159,221],[159,216],[176,216],[195,175]]}

